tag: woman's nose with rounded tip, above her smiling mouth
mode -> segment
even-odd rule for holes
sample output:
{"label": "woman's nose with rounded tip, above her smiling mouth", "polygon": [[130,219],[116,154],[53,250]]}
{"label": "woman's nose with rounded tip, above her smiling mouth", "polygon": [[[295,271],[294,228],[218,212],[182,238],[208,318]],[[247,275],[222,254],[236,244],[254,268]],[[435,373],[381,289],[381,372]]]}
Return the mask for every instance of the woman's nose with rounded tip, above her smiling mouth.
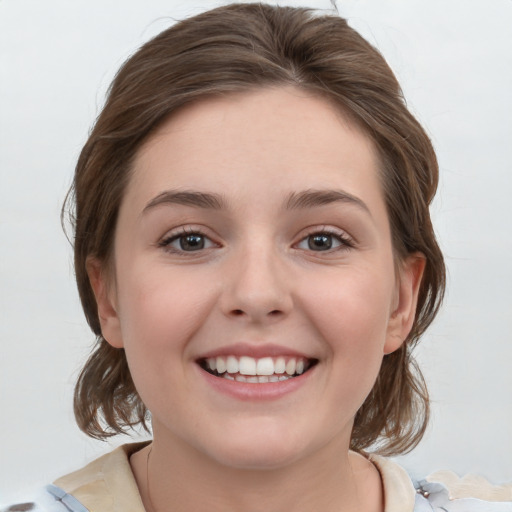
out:
{"label": "woman's nose with rounded tip, above her smiling mouth", "polygon": [[[234,260],[234,261],[233,261]],[[251,323],[283,318],[292,309],[292,282],[272,248],[253,247],[228,263],[221,298],[223,313]]]}

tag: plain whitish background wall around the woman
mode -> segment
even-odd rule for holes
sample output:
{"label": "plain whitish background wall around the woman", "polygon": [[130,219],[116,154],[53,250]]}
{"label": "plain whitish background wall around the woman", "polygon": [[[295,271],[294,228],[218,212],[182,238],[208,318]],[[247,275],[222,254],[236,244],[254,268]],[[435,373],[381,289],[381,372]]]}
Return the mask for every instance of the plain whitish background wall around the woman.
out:
{"label": "plain whitish background wall around the woman", "polygon": [[[0,0],[1,502],[109,449],[72,417],[93,338],[59,210],[122,61],[173,19],[219,3]],[[418,351],[434,417],[402,463],[418,476],[512,481],[512,1],[338,4],[395,70],[442,173],[433,214],[448,296]]]}

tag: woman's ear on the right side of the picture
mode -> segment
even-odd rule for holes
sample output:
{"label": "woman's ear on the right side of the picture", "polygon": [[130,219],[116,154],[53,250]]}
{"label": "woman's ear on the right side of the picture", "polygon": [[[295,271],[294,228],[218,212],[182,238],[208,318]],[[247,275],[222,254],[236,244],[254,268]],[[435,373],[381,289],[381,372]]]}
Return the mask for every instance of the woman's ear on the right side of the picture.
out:
{"label": "woman's ear on the right side of the picture", "polygon": [[410,254],[400,263],[396,297],[388,323],[384,354],[390,354],[399,349],[411,332],[425,264],[425,256],[420,252]]}

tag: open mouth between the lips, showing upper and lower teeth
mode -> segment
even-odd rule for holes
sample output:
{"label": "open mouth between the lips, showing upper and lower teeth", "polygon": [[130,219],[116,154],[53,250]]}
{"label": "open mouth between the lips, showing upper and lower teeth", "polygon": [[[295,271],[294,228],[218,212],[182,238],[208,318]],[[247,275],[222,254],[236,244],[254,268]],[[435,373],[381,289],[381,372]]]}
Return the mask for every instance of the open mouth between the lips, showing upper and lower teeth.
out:
{"label": "open mouth between the lips, showing upper and lower teeth", "polygon": [[318,363],[305,357],[218,356],[198,360],[209,374],[237,382],[266,384],[294,379],[308,372]]}

